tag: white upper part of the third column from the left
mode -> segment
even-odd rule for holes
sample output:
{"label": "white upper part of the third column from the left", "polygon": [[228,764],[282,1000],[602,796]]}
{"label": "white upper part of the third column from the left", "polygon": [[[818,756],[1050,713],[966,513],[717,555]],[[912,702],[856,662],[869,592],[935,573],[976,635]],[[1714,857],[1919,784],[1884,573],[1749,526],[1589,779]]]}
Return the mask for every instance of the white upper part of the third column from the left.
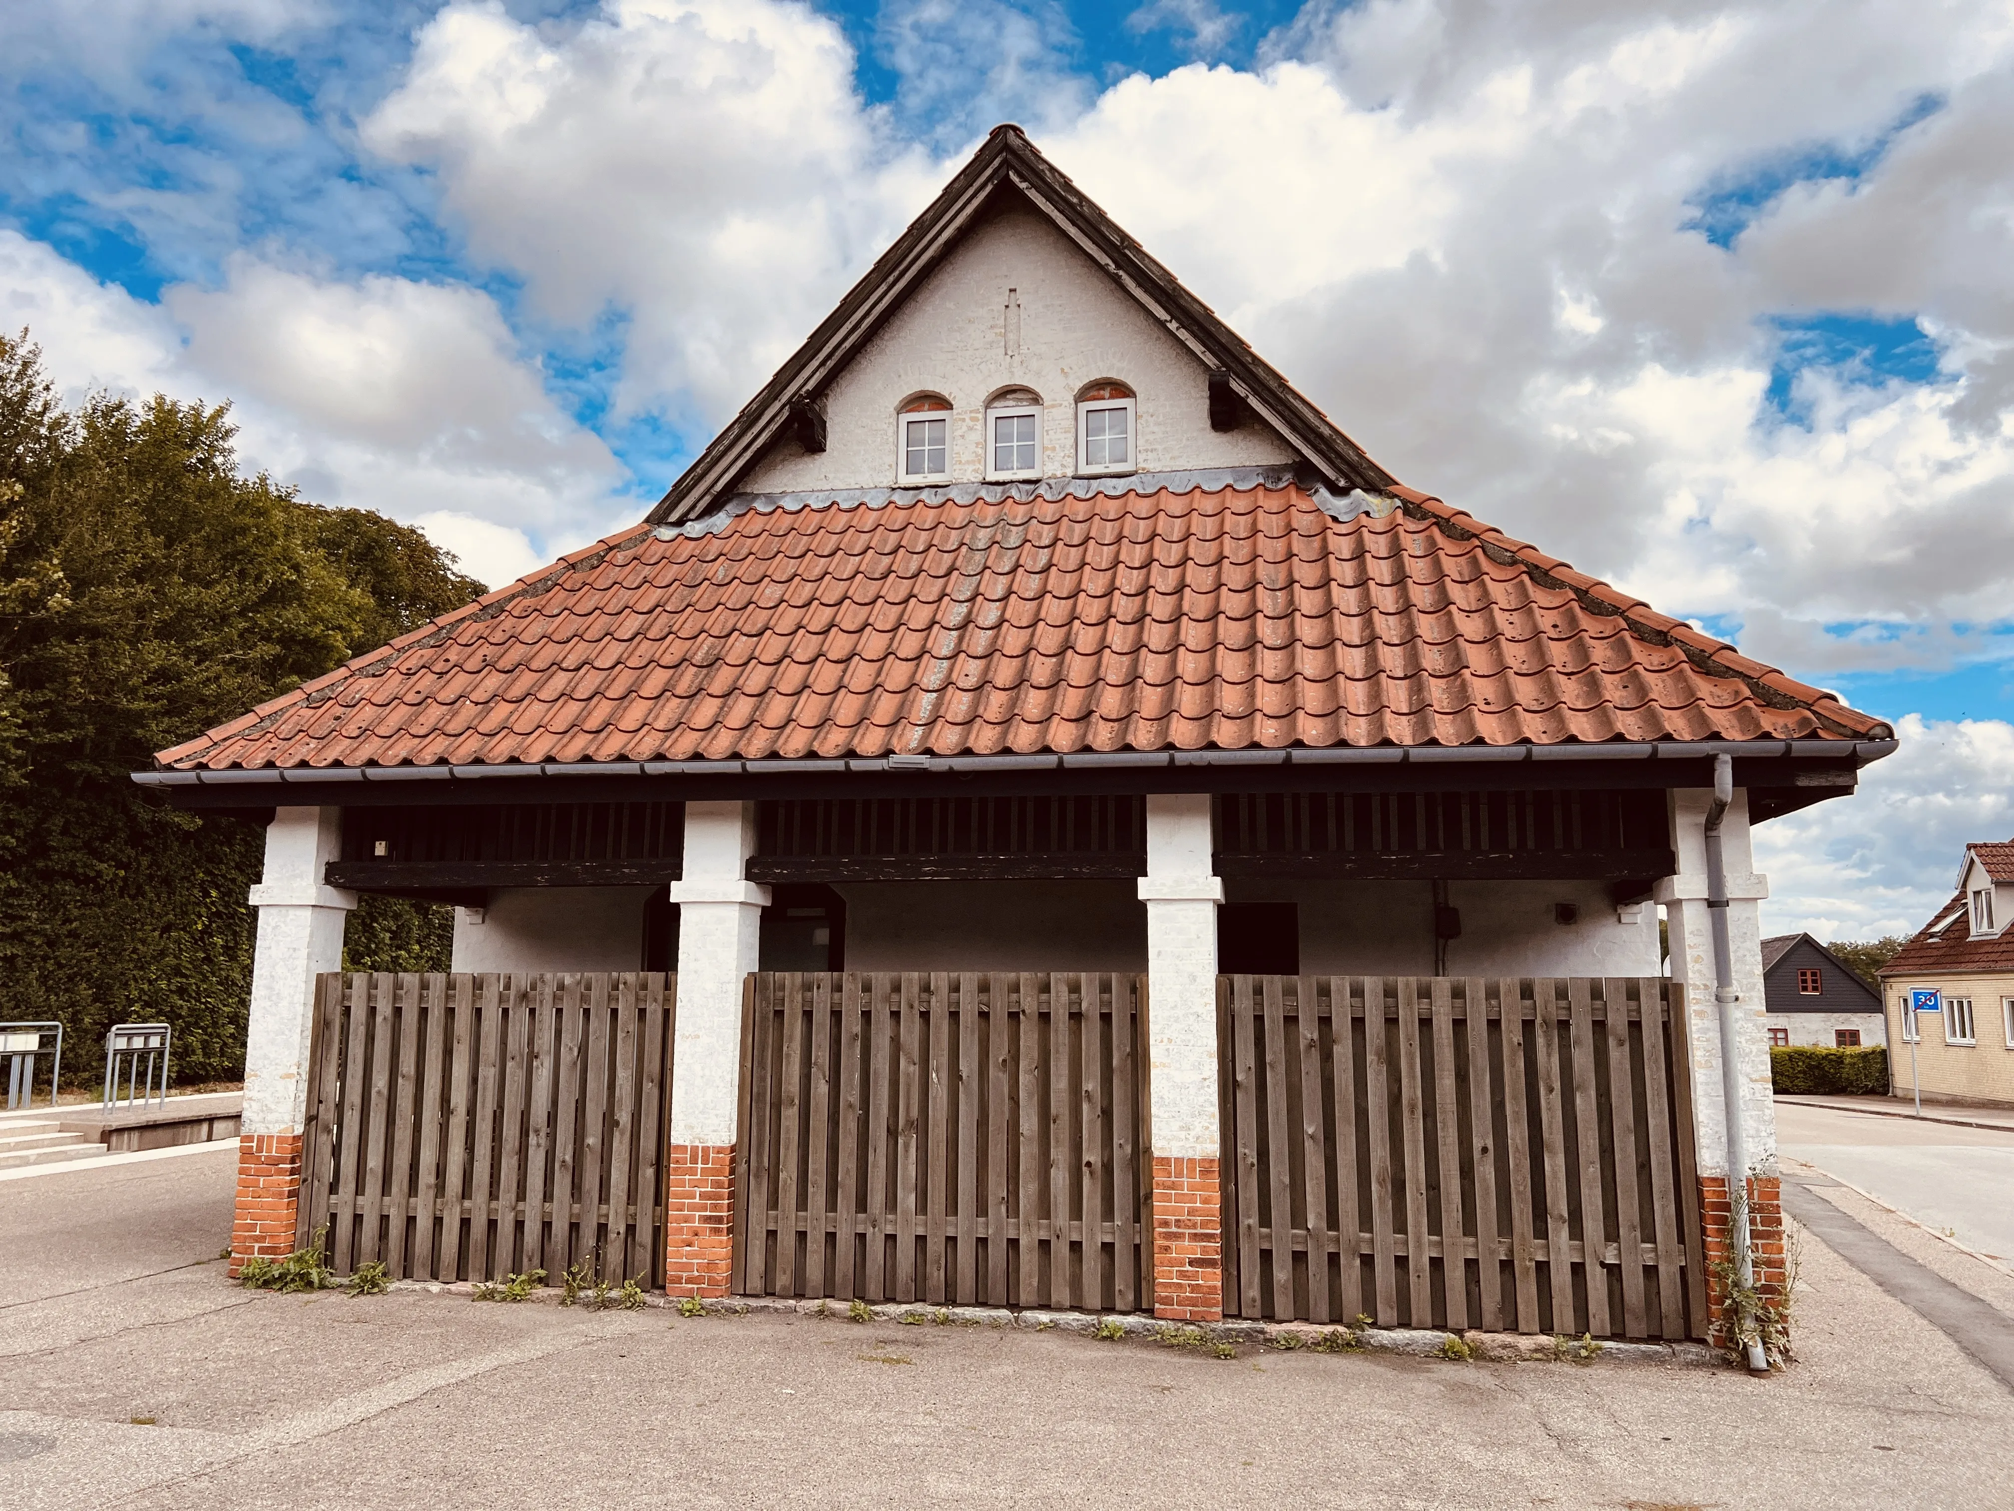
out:
{"label": "white upper part of the third column from the left", "polygon": [[1146,800],[1146,989],[1154,1154],[1216,1158],[1216,905],[1210,796]]}

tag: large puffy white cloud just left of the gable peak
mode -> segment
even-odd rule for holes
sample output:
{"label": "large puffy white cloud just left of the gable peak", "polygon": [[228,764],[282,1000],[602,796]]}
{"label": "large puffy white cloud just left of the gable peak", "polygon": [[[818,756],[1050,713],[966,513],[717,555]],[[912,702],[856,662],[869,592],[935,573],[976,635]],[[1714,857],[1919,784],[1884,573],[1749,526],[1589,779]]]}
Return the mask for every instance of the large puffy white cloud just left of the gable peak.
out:
{"label": "large puffy white cloud just left of the gable peak", "polygon": [[532,310],[624,320],[618,413],[719,423],[937,187],[852,85],[838,26],[771,0],[608,0],[532,26],[451,4],[363,121],[433,169]]}

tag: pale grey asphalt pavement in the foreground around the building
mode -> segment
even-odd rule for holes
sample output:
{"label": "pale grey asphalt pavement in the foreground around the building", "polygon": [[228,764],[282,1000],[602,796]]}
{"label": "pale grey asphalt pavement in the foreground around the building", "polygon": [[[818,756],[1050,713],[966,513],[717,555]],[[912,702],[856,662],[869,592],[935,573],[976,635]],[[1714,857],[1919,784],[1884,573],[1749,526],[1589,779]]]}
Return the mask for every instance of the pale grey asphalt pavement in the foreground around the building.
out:
{"label": "pale grey asphalt pavement in the foreground around the building", "polygon": [[[2014,1392],[1807,1235],[1799,1364],[246,1293],[228,1154],[0,1187],[0,1505],[2000,1505]],[[1921,1229],[1821,1191],[1895,1245]],[[1887,1227],[1883,1227],[1887,1225]],[[1954,1257],[1984,1271],[1941,1245]],[[1974,1277],[1974,1293],[2014,1279]],[[2000,1295],[1994,1306],[2008,1308]]]}

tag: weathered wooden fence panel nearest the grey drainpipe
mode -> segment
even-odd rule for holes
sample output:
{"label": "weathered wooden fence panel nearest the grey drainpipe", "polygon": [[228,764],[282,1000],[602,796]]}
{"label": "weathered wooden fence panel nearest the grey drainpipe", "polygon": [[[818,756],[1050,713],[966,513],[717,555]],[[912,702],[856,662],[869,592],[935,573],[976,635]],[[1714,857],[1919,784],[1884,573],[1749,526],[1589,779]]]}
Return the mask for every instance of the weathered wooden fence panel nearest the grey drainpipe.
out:
{"label": "weathered wooden fence panel nearest the grey drainpipe", "polygon": [[1218,983],[1225,1314],[1704,1336],[1682,987]]}

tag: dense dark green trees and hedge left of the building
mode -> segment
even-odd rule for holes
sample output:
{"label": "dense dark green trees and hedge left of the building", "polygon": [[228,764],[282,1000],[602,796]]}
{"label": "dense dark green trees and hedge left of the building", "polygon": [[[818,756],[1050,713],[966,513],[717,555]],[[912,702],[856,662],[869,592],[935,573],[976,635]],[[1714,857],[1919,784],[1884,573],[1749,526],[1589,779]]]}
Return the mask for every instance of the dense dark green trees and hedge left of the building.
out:
{"label": "dense dark green trees and hedge left of the building", "polygon": [[[244,1064],[262,834],[129,774],[481,590],[417,530],[242,475],[228,413],[70,413],[0,336],[0,1017],[62,1021],[87,1080],[113,1021],[173,1023],[177,1080]],[[445,909],[358,915],[358,969],[445,969]]]}

